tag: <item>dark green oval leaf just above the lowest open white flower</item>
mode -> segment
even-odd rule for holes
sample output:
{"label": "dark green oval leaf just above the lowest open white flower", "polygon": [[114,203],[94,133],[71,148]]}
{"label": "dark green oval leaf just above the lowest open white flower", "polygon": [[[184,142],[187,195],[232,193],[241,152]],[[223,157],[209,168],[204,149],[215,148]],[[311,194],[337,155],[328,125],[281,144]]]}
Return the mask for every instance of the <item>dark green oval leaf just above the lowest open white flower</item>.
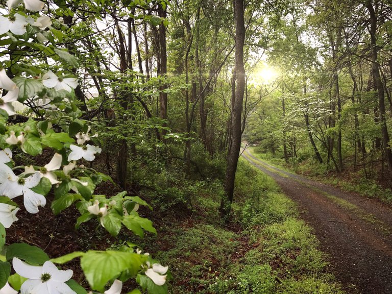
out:
{"label": "dark green oval leaf just above the lowest open white flower", "polygon": [[33,265],[42,265],[49,260],[49,256],[40,248],[26,243],[13,243],[6,248],[6,258],[17,257]]}

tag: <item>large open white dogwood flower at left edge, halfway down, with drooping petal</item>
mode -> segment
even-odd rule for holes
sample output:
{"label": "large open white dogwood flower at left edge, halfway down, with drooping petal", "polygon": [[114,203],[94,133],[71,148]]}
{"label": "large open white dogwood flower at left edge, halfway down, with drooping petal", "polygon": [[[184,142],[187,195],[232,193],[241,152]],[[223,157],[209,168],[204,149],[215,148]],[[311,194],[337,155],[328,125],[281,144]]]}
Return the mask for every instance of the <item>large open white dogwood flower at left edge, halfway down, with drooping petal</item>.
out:
{"label": "large open white dogwood flower at left edge, halfway down, with drooping petal", "polygon": [[38,206],[45,206],[46,198],[30,188],[37,186],[40,178],[39,173],[34,173],[27,178],[17,177],[9,166],[0,163],[0,195],[10,199],[23,195],[26,210],[30,213],[37,213]]}

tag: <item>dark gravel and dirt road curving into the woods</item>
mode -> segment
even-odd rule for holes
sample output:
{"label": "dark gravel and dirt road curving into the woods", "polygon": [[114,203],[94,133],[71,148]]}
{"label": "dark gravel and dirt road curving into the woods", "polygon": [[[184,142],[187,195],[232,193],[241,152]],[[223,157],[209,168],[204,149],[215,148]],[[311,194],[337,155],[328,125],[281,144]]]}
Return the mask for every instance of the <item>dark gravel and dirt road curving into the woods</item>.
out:
{"label": "dark gravel and dirt road curving into the woods", "polygon": [[392,293],[392,210],[374,199],[344,192],[269,165],[248,150],[242,156],[273,177],[298,203],[314,228],[332,270],[348,293]]}

